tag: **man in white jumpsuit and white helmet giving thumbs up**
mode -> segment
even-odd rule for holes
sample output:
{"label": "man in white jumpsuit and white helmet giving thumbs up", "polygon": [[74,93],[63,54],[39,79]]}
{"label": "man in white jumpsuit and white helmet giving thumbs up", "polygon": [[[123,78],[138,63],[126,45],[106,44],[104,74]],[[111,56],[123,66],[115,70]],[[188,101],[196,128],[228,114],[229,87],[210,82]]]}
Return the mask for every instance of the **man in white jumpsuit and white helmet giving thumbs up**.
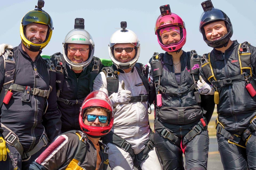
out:
{"label": "man in white jumpsuit and white helmet giving thumbs up", "polygon": [[94,80],[93,89],[109,94],[115,107],[113,130],[102,138],[114,170],[162,169],[149,127],[147,77],[143,65],[136,63],[139,52],[133,31],[116,31],[109,43],[113,66],[104,67]]}

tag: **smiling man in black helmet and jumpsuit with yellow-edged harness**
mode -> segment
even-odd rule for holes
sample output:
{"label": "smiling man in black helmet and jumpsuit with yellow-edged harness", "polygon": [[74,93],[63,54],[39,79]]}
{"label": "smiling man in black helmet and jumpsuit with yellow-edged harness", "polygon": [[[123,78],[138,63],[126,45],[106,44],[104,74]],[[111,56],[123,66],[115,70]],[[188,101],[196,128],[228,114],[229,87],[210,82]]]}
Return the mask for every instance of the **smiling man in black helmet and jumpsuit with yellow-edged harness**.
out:
{"label": "smiling man in black helmet and jumpsuit with yellow-edged harness", "polygon": [[214,49],[201,61],[199,85],[215,90],[221,161],[224,169],[256,169],[256,48],[230,40],[230,19],[211,1],[202,7],[199,30]]}

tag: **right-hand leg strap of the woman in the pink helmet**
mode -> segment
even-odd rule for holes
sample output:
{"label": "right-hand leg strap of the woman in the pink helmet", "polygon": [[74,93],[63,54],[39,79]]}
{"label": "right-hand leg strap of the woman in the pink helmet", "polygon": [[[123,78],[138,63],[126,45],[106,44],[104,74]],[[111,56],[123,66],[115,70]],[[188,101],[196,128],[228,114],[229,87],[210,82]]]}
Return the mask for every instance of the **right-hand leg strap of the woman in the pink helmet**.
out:
{"label": "right-hand leg strap of the woman in the pink helmet", "polygon": [[207,120],[205,117],[201,118],[200,121],[192,128],[192,130],[187,133],[183,139],[182,145],[186,146],[187,143],[189,143],[190,141],[192,141],[192,139],[194,139],[194,137],[198,134],[200,134],[202,132],[202,130],[204,130],[205,128],[207,128]]}

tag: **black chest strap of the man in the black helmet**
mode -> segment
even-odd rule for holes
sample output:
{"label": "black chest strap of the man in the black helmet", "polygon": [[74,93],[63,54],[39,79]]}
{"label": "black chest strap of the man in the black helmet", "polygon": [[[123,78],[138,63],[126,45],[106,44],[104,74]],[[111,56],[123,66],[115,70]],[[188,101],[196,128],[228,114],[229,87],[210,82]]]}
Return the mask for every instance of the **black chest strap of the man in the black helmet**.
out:
{"label": "black chest strap of the man in the black helmet", "polygon": [[240,75],[236,75],[236,76],[231,77],[231,78],[217,80],[217,81],[212,81],[211,83],[216,88],[216,87],[229,86],[232,83],[241,82],[241,81],[244,81],[244,80],[245,80],[245,75],[244,74],[240,74]]}

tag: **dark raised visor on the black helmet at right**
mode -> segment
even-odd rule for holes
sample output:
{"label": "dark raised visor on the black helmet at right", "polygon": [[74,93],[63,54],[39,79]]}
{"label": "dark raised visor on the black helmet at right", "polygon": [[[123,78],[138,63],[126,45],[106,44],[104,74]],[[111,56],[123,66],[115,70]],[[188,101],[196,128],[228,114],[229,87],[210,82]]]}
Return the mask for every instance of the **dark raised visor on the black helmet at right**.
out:
{"label": "dark raised visor on the black helmet at right", "polygon": [[221,10],[219,10],[217,8],[211,8],[208,11],[204,11],[202,13],[199,27],[202,28],[207,23],[211,23],[211,22],[218,21],[218,20],[223,20],[223,21],[228,22],[228,17]]}

